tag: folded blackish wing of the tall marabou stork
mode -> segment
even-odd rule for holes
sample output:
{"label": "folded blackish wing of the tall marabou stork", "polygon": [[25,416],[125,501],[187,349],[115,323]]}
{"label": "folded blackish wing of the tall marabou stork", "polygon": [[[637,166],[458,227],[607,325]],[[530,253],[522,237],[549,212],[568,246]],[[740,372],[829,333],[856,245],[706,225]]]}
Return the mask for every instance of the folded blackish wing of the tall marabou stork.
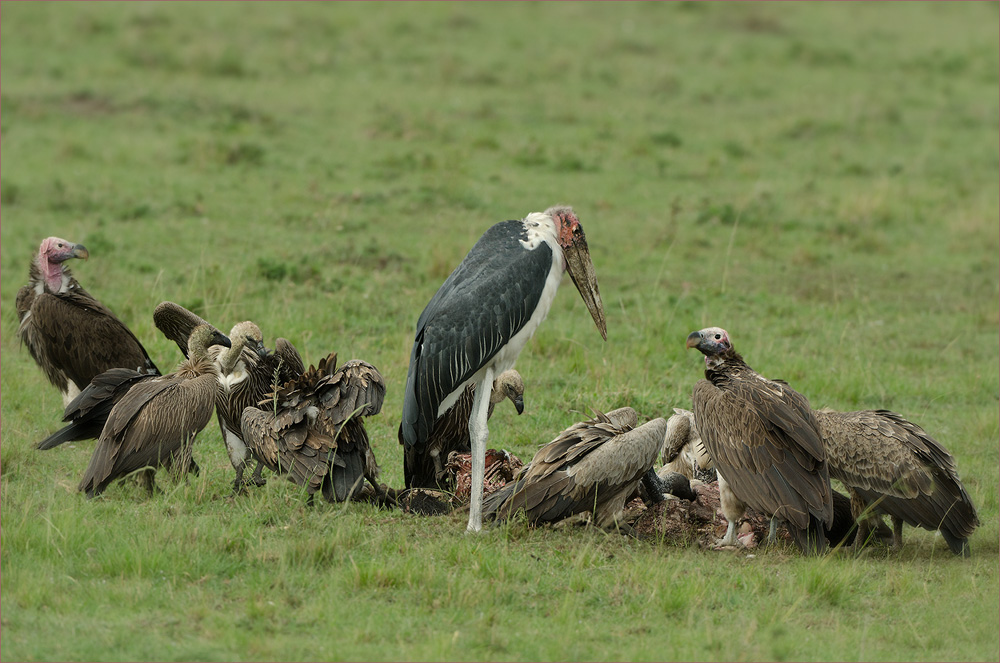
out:
{"label": "folded blackish wing of the tall marabou stork", "polygon": [[485,366],[531,318],[552,249],[529,250],[524,224],[504,221],[476,242],[417,321],[403,399],[402,437],[422,450],[441,401]]}

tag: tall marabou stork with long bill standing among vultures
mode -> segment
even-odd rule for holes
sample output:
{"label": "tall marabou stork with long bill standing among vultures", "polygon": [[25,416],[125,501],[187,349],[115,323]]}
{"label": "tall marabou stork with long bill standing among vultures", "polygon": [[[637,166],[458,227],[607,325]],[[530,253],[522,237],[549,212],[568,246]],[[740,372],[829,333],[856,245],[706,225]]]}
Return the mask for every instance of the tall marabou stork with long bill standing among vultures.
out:
{"label": "tall marabou stork with long bill standing among vultures", "polygon": [[479,238],[417,320],[401,433],[423,453],[434,423],[469,384],[472,496],[468,530],[482,529],[487,407],[493,379],[512,368],[568,271],[604,340],[607,324],[583,226],[570,207],[503,221]]}

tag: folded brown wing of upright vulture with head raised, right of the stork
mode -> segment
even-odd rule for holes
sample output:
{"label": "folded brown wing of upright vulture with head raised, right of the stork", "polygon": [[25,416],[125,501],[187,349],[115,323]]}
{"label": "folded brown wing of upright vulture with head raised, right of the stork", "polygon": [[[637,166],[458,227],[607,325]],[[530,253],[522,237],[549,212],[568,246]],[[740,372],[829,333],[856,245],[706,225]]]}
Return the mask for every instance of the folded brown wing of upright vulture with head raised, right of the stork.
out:
{"label": "folded brown wing of upright vulture with head raised, right of the stork", "polygon": [[695,425],[737,496],[800,530],[833,520],[823,441],[808,401],[785,385],[737,381],[694,387]]}

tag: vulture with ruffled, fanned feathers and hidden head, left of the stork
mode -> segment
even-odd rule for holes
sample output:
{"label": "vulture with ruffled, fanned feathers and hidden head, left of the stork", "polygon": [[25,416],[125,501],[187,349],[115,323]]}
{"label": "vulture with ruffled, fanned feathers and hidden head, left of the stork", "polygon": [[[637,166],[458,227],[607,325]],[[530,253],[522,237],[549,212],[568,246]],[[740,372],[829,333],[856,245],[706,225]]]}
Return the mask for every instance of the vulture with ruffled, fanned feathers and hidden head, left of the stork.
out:
{"label": "vulture with ruffled, fanned feathers and hidden head, left of the stork", "polygon": [[358,497],[365,479],[382,492],[363,417],[382,409],[385,382],[366,362],[336,365],[332,353],[240,417],[251,453],[272,472],[303,486],[310,503],[317,491],[328,502]]}

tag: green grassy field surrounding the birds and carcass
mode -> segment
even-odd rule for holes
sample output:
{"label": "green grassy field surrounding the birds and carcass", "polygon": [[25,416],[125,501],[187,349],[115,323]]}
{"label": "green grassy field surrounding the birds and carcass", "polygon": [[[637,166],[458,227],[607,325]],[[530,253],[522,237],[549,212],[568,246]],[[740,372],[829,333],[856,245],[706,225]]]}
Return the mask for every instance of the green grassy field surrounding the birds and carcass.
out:
{"label": "green grassy field surrounding the birds and carcass", "polygon": [[[2,6],[2,637],[14,660],[997,660],[997,3]],[[460,516],[76,491],[19,348],[40,240],[164,371],[165,299],[382,371],[382,478],[413,326],[490,224],[574,205],[569,284],[518,362],[527,460],[589,408],[689,406],[725,327],[816,407],[886,407],[955,456],[972,557],[755,557]]]}

